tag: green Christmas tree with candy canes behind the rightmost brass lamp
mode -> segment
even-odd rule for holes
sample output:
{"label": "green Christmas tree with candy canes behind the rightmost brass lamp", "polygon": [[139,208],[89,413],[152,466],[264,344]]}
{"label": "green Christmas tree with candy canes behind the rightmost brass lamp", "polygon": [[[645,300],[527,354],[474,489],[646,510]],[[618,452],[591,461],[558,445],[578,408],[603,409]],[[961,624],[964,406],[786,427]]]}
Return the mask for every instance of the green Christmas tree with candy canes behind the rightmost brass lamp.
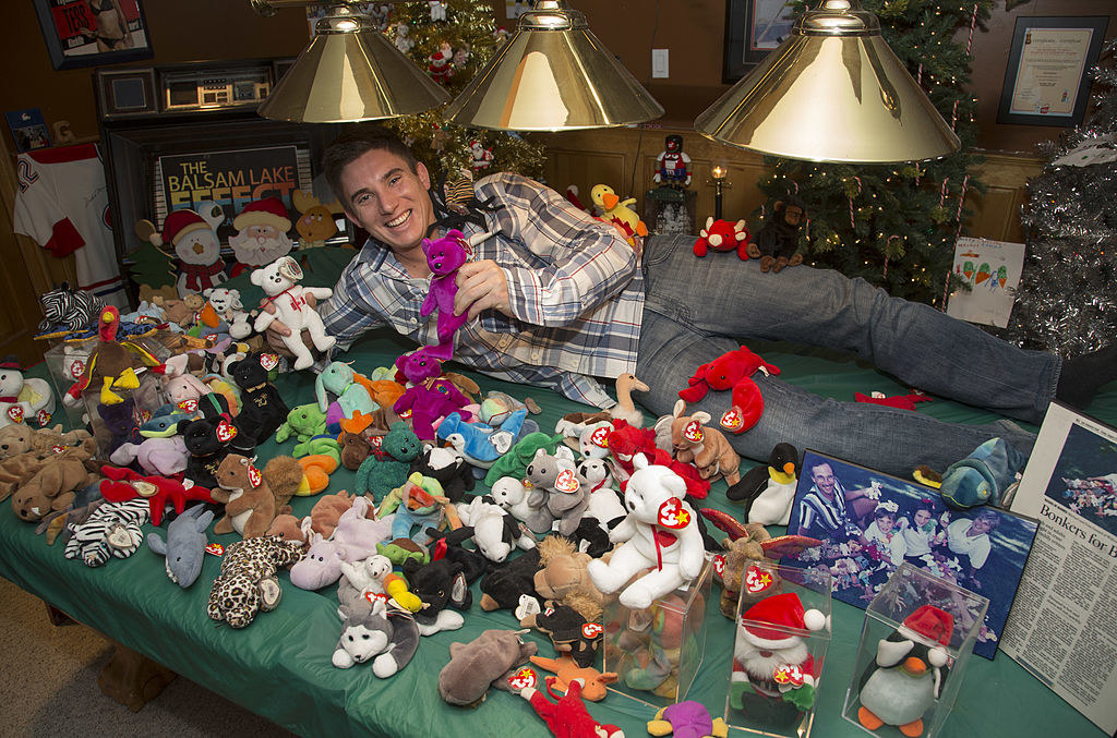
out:
{"label": "green Christmas tree with candy canes behind the rightmost brass lamp", "polygon": [[[954,243],[968,215],[970,190],[983,188],[971,169],[975,99],[970,80],[974,32],[991,0],[863,0],[881,35],[935,108],[962,140],[958,153],[930,162],[886,165],[817,164],[768,157],[760,188],[771,202],[798,197],[805,262],[863,277],[891,295],[942,305]],[[805,3],[796,3],[802,11]],[[760,213],[771,217],[772,208]]]}

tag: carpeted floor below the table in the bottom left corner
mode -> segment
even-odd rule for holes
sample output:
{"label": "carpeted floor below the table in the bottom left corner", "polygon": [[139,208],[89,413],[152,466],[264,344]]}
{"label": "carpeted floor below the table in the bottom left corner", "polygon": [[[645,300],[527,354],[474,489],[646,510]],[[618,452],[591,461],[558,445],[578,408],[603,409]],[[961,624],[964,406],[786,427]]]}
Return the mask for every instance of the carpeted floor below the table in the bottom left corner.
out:
{"label": "carpeted floor below the table in the bottom left corner", "polygon": [[97,687],[113,654],[99,633],[55,626],[42,601],[0,577],[0,737],[290,735],[275,723],[182,677],[139,712]]}

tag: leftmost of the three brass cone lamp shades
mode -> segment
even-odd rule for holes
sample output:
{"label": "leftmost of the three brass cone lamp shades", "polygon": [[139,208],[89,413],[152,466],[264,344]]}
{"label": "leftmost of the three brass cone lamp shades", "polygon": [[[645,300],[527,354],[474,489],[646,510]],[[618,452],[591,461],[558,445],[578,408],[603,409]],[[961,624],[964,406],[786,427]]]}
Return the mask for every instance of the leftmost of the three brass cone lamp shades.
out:
{"label": "leftmost of the three brass cone lamp shades", "polygon": [[318,20],[258,112],[299,123],[345,123],[422,113],[450,96],[363,16],[338,7]]}

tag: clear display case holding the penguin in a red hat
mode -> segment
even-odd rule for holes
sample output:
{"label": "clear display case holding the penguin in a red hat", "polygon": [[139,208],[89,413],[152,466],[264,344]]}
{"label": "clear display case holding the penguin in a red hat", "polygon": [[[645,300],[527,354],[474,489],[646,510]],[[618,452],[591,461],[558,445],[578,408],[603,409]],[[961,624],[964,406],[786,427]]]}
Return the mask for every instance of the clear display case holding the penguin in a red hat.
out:
{"label": "clear display case holding the penguin in a red hat", "polygon": [[903,564],[866,611],[842,717],[875,736],[934,738],[987,607],[985,597]]}

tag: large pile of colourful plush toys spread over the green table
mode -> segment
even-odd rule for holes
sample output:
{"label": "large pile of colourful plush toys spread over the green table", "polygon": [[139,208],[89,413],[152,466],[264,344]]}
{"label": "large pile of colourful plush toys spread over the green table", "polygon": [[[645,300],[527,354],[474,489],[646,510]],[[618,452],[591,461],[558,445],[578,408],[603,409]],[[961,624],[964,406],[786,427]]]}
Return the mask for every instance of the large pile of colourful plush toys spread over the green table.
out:
{"label": "large pile of colourful plush toys spread over the green table", "polygon": [[[191,220],[176,234],[197,240],[206,228]],[[739,240],[727,234],[724,243]],[[736,619],[750,564],[811,544],[771,538],[763,527],[787,521],[798,451],[779,444],[742,476],[727,440],[763,412],[751,376],[780,370],[746,347],[729,352],[696,367],[674,412],[647,425],[629,397],[646,387],[627,375],[614,410],[569,414],[547,432],[529,397],[481,395],[468,377],[443,371],[460,327],[452,275],[471,246],[456,231],[424,242],[437,278],[423,309],[438,310],[437,345],[363,372],[323,362],[314,400],[302,404],[285,400],[294,395],[276,385],[284,363],[254,335],[281,319],[308,330],[319,351],[333,344],[306,299],[330,290],[303,287],[290,256],[251,272],[267,295],[255,316],[221,287],[206,287],[201,301],[163,299],[162,313],[146,305],[128,316],[71,296],[66,309],[84,309],[84,319],[56,315],[50,328],[97,337],[66,392],[90,410],[94,432],[50,426],[49,387],[0,365],[0,495],[88,566],[131,556],[146,537],[171,582],[190,587],[204,557],[220,555],[220,573],[202,586],[211,588],[209,617],[233,629],[277,607],[284,578],[336,587],[338,639],[322,659],[340,669],[371,662],[381,678],[407,668],[420,636],[461,627],[476,588],[479,607],[508,612],[508,629],[451,646],[441,697],[476,705],[496,687],[528,701],[555,735],[620,735],[583,700],[622,682],[674,701],[687,648],[679,588],[714,562],[722,611]],[[190,274],[204,282],[202,271]],[[180,333],[184,325],[206,327],[191,335]],[[288,347],[290,368],[311,365],[302,341]],[[719,416],[688,410],[709,393]],[[286,451],[260,458],[273,441]],[[338,467],[352,483],[326,493]],[[739,520],[700,507],[719,479],[744,505]],[[313,506],[297,500],[312,496]],[[235,541],[211,540],[225,535]],[[753,614],[802,624],[801,611],[782,600]],[[810,613],[808,621],[821,626]],[[553,658],[525,642],[526,629],[547,636]],[[626,654],[623,673],[595,669],[607,639]],[[803,694],[795,709],[809,707]],[[648,729],[726,735],[693,702],[661,710]]]}

